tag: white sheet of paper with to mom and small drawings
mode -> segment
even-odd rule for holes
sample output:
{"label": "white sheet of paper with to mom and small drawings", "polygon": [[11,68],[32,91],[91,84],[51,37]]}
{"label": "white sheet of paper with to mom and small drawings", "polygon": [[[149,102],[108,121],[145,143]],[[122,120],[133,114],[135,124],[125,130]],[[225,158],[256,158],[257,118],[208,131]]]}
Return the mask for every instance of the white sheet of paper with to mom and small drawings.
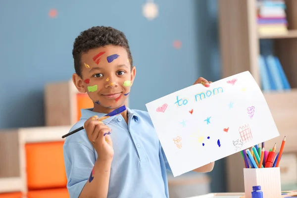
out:
{"label": "white sheet of paper with to mom and small drawings", "polygon": [[279,136],[248,71],[146,106],[174,177]]}

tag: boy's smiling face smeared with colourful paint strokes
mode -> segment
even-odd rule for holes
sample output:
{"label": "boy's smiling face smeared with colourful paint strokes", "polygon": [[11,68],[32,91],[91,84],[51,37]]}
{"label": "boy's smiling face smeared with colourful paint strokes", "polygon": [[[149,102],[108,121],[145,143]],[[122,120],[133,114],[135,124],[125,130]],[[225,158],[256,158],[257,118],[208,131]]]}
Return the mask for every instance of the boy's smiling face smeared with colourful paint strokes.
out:
{"label": "boy's smiling face smeared with colourful paint strokes", "polygon": [[81,64],[82,78],[73,74],[72,79],[78,91],[93,100],[94,111],[108,113],[125,104],[136,74],[126,49],[91,49],[82,55]]}

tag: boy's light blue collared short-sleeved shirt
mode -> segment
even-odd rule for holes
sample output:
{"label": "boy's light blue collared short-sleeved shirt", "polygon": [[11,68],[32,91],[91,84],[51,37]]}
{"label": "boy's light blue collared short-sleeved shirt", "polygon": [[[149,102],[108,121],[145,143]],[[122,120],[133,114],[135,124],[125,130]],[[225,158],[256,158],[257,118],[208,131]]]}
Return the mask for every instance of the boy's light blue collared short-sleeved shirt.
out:
{"label": "boy's light blue collared short-sleeved shirt", "polygon": [[[148,112],[129,108],[127,111],[128,125],[122,115],[103,120],[112,130],[114,149],[107,197],[168,198],[166,168],[170,170],[170,167]],[[80,121],[70,131],[83,126],[94,115],[104,115],[92,109],[81,112]],[[85,130],[68,136],[63,149],[68,192],[70,198],[78,198],[98,154]]]}

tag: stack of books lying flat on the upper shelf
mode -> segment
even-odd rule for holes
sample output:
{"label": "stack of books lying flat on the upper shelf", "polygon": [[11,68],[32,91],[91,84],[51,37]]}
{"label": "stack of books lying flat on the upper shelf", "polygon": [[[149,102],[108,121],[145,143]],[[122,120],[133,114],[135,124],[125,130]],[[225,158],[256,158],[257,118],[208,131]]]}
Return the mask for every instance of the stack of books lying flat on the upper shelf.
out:
{"label": "stack of books lying flat on the upper shelf", "polygon": [[257,25],[261,35],[287,34],[288,21],[284,0],[258,0]]}

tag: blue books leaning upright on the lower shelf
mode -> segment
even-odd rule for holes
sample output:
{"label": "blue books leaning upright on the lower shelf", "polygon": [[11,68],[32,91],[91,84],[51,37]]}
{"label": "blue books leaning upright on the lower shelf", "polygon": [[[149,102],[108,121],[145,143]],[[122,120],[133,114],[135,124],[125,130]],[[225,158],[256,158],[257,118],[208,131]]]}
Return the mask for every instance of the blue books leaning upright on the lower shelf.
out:
{"label": "blue books leaning upright on the lower shelf", "polygon": [[263,91],[269,92],[291,89],[278,57],[273,55],[260,55],[258,61]]}

